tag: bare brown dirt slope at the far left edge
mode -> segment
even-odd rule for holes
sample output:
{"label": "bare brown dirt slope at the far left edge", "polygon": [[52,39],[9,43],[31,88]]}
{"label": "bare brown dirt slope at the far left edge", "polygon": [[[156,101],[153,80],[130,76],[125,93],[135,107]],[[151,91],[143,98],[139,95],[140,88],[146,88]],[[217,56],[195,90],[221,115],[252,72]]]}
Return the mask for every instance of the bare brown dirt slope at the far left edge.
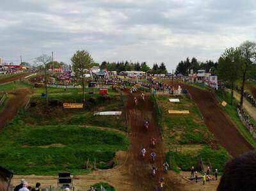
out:
{"label": "bare brown dirt slope at the far left edge", "polygon": [[0,131],[3,130],[6,123],[13,119],[19,108],[28,102],[32,93],[32,90],[28,88],[17,89],[8,93],[8,101],[0,114]]}

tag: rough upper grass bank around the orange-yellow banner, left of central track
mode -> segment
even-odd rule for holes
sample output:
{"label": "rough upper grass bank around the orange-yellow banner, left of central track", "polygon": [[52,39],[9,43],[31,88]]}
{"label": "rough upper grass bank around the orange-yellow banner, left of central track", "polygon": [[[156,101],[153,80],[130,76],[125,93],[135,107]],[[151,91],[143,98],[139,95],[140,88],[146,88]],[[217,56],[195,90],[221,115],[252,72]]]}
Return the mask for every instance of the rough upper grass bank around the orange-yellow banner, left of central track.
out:
{"label": "rough upper grass bank around the orange-yellow banner, left of central track", "polygon": [[[83,95],[61,94],[50,95],[49,100],[56,100],[58,105],[45,107],[45,98],[34,96],[28,111],[20,111],[24,125],[91,125],[126,130],[125,116],[93,116],[94,112],[122,111],[123,102],[120,96],[86,95],[83,109],[63,109],[63,102],[82,103]],[[51,103],[50,103],[51,104]]]}

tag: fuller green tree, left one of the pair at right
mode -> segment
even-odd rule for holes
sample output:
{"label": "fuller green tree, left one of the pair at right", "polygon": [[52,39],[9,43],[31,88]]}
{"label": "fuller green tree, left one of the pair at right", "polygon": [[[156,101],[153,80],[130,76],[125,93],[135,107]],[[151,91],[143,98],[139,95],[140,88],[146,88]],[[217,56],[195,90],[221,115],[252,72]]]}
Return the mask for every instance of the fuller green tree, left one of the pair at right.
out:
{"label": "fuller green tree, left one of the pair at right", "polygon": [[239,79],[239,68],[241,65],[241,51],[231,47],[221,55],[218,65],[219,78],[231,89],[231,104],[234,99],[234,86]]}

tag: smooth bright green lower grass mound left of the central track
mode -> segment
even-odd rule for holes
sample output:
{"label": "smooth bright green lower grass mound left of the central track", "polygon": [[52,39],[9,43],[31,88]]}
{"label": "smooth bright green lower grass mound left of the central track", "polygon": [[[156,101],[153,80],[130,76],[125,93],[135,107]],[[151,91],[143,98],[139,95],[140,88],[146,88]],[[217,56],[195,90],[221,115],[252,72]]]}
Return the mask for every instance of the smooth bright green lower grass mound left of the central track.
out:
{"label": "smooth bright green lower grass mound left of the central track", "polygon": [[6,126],[0,137],[0,165],[15,174],[82,174],[88,172],[84,169],[88,158],[91,162],[96,158],[99,169],[108,169],[116,151],[127,149],[129,144],[125,135],[99,128],[23,126],[19,120]]}

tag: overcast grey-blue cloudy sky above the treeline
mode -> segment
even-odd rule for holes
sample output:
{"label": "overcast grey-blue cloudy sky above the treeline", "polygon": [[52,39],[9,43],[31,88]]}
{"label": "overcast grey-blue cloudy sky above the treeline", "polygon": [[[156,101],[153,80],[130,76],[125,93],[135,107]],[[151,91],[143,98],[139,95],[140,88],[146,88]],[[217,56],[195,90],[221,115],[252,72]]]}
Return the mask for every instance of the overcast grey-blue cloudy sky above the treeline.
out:
{"label": "overcast grey-blue cloudy sky above the treeline", "polygon": [[218,60],[256,38],[255,0],[1,0],[0,57],[40,54],[70,63],[76,50],[96,62]]}

